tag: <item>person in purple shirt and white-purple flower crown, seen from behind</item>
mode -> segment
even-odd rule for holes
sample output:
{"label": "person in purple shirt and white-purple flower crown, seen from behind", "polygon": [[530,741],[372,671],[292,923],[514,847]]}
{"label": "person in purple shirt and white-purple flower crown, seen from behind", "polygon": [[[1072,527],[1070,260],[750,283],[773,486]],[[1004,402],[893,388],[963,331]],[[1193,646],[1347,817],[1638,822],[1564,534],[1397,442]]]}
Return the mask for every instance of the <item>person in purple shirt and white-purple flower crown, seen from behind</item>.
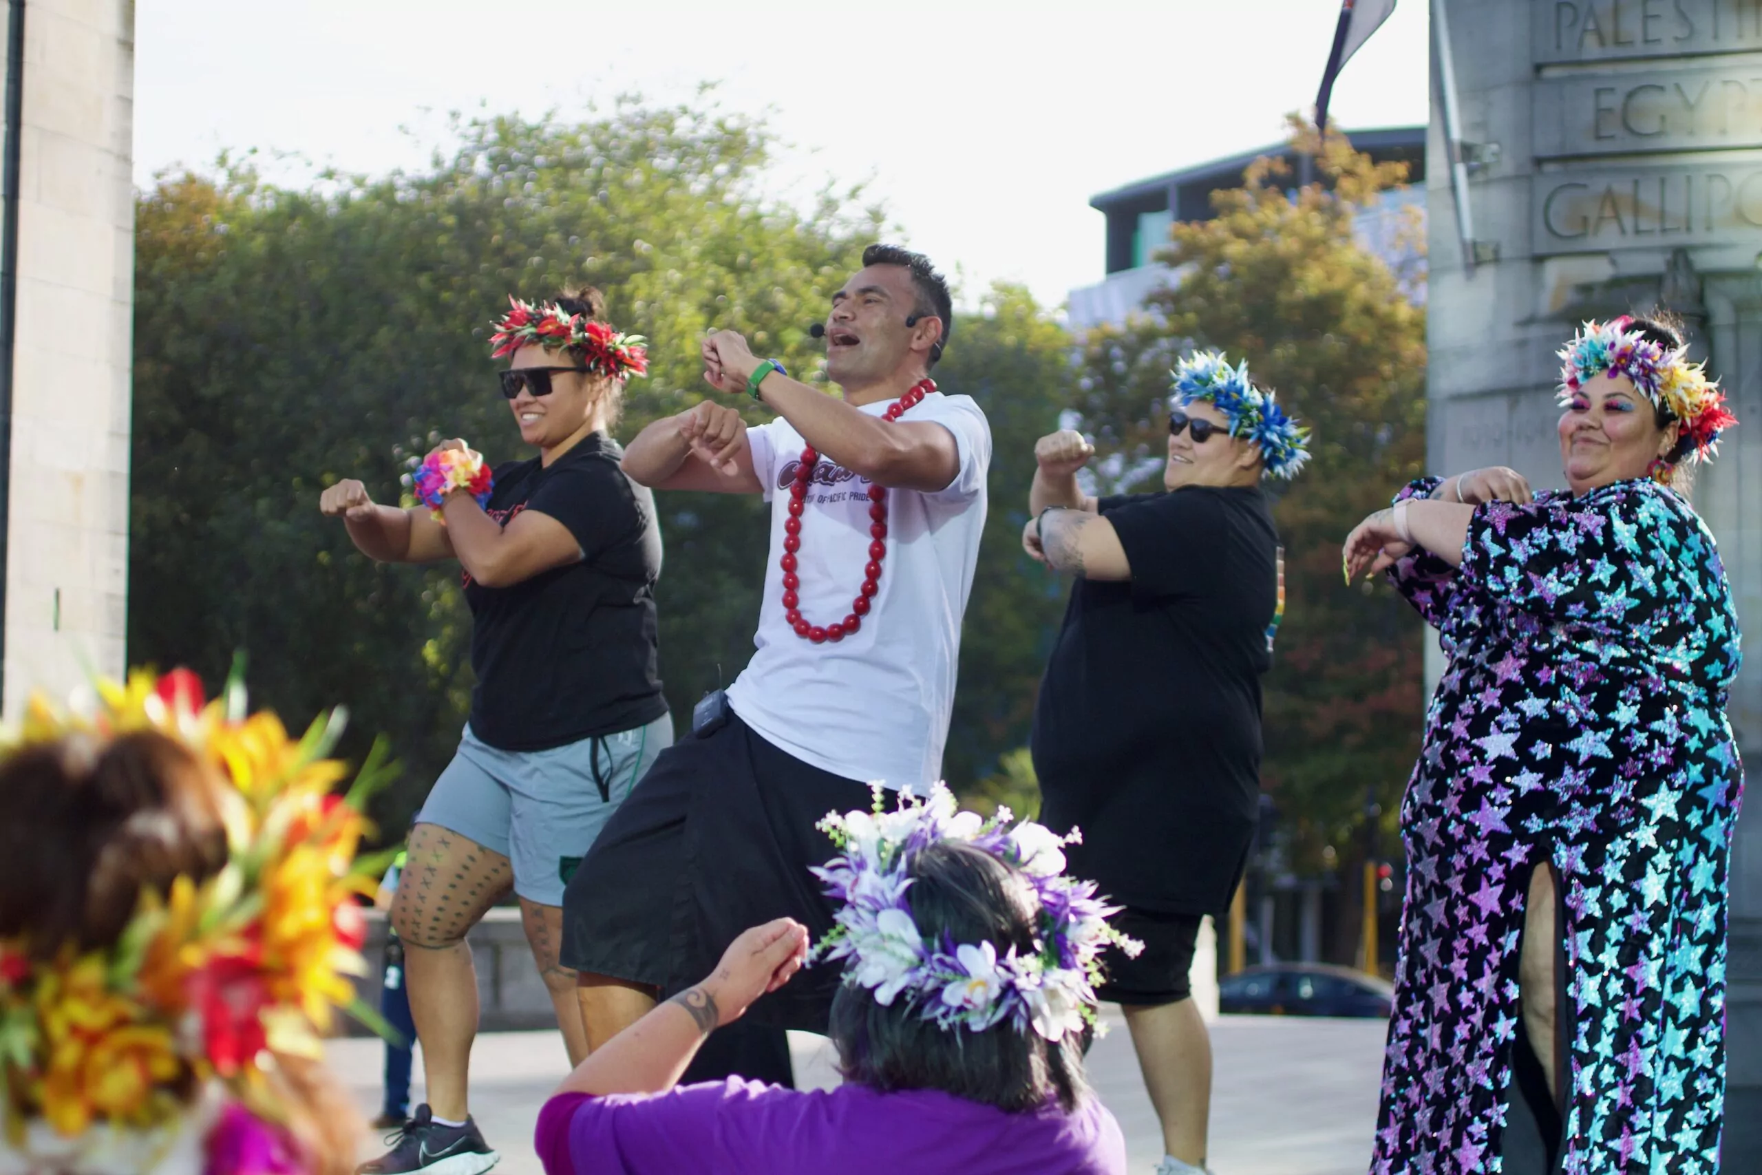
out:
{"label": "person in purple shirt and white-purple flower crown, seen from behind", "polygon": [[832,1041],[844,1085],[677,1087],[703,1039],[807,964],[807,928],[752,927],[701,983],[583,1060],[539,1113],[546,1175],[1124,1175],[1119,1122],[1089,1092],[1101,948],[1131,950],[1061,839],[955,812],[937,786],[895,812],[830,816],[844,898],[816,962],[844,962]]}

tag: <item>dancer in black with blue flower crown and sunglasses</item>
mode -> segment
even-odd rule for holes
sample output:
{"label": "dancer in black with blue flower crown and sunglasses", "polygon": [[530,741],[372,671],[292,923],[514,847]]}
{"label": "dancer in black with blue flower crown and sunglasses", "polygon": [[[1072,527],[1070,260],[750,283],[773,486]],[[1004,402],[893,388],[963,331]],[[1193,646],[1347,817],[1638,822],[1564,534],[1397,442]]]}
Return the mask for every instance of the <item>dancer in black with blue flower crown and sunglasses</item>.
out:
{"label": "dancer in black with blue flower crown and sunglasses", "polygon": [[1260,803],[1260,678],[1284,611],[1267,479],[1290,481],[1309,430],[1247,361],[1184,356],[1163,491],[1092,497],[1094,447],[1041,437],[1022,544],[1077,583],[1034,706],[1031,752],[1071,870],[1144,941],[1101,997],[1126,1009],[1163,1126],[1165,1175],[1205,1168],[1210,1043],[1188,971],[1205,914],[1242,879]]}

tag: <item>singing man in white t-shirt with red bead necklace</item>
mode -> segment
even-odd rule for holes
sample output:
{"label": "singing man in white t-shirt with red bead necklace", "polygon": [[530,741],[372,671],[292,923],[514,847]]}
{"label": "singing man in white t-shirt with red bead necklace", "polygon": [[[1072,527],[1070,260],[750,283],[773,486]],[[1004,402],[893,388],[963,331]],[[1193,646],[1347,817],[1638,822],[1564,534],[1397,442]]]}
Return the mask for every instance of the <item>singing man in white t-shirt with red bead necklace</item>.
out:
{"label": "singing man in white t-shirt with red bead necklace", "polygon": [[[951,326],[930,262],[872,245],[823,326],[842,398],[719,331],[705,379],[777,419],[747,428],[707,400],[626,451],[624,472],[657,490],[763,493],[772,536],[752,661],[569,881],[562,962],[580,972],[590,1048],[696,983],[747,927],[828,930],[807,867],[833,849],[814,824],[869,807],[869,780],[941,777],[990,463],[985,414],[929,379]],[[837,978],[803,971],[749,1018],[825,1032]]]}

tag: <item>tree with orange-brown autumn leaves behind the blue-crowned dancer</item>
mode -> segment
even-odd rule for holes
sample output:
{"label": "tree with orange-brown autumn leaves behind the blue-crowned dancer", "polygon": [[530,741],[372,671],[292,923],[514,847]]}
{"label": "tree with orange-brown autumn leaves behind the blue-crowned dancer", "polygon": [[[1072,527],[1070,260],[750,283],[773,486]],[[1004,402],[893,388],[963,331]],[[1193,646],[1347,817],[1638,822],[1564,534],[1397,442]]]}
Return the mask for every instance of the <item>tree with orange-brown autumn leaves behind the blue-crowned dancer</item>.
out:
{"label": "tree with orange-brown autumn leaves behind the blue-crowned dancer", "polygon": [[[1212,196],[1216,218],[1177,224],[1161,254],[1179,280],[1152,314],[1085,347],[1080,412],[1121,488],[1151,488],[1166,442],[1168,368],[1188,347],[1247,356],[1255,377],[1313,426],[1307,469],[1272,483],[1286,546],[1286,613],[1265,684],[1263,780],[1292,833],[1293,863],[1362,860],[1367,793],[1392,831],[1418,750],[1420,631],[1376,585],[1344,585],[1339,544],[1420,472],[1425,317],[1408,275],[1360,245],[1355,220],[1401,183],[1339,136],[1320,144],[1322,181],[1295,192],[1283,164],[1255,162]],[[1383,851],[1394,851],[1385,837]],[[1348,877],[1353,874],[1346,874]],[[1348,920],[1350,921],[1350,920]]]}

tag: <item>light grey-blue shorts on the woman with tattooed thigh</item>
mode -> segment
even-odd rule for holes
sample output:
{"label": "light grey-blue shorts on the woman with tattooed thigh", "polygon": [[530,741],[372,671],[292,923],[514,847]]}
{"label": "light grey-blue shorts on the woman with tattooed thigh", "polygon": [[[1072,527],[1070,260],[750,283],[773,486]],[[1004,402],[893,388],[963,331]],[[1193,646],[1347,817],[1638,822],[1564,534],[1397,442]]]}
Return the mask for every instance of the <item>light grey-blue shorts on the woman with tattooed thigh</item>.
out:
{"label": "light grey-blue shorts on the woman with tattooed thigh", "polygon": [[562,905],[564,886],[594,837],[671,745],[668,713],[633,731],[550,750],[497,750],[467,726],[416,823],[500,853],[515,867],[515,893]]}

